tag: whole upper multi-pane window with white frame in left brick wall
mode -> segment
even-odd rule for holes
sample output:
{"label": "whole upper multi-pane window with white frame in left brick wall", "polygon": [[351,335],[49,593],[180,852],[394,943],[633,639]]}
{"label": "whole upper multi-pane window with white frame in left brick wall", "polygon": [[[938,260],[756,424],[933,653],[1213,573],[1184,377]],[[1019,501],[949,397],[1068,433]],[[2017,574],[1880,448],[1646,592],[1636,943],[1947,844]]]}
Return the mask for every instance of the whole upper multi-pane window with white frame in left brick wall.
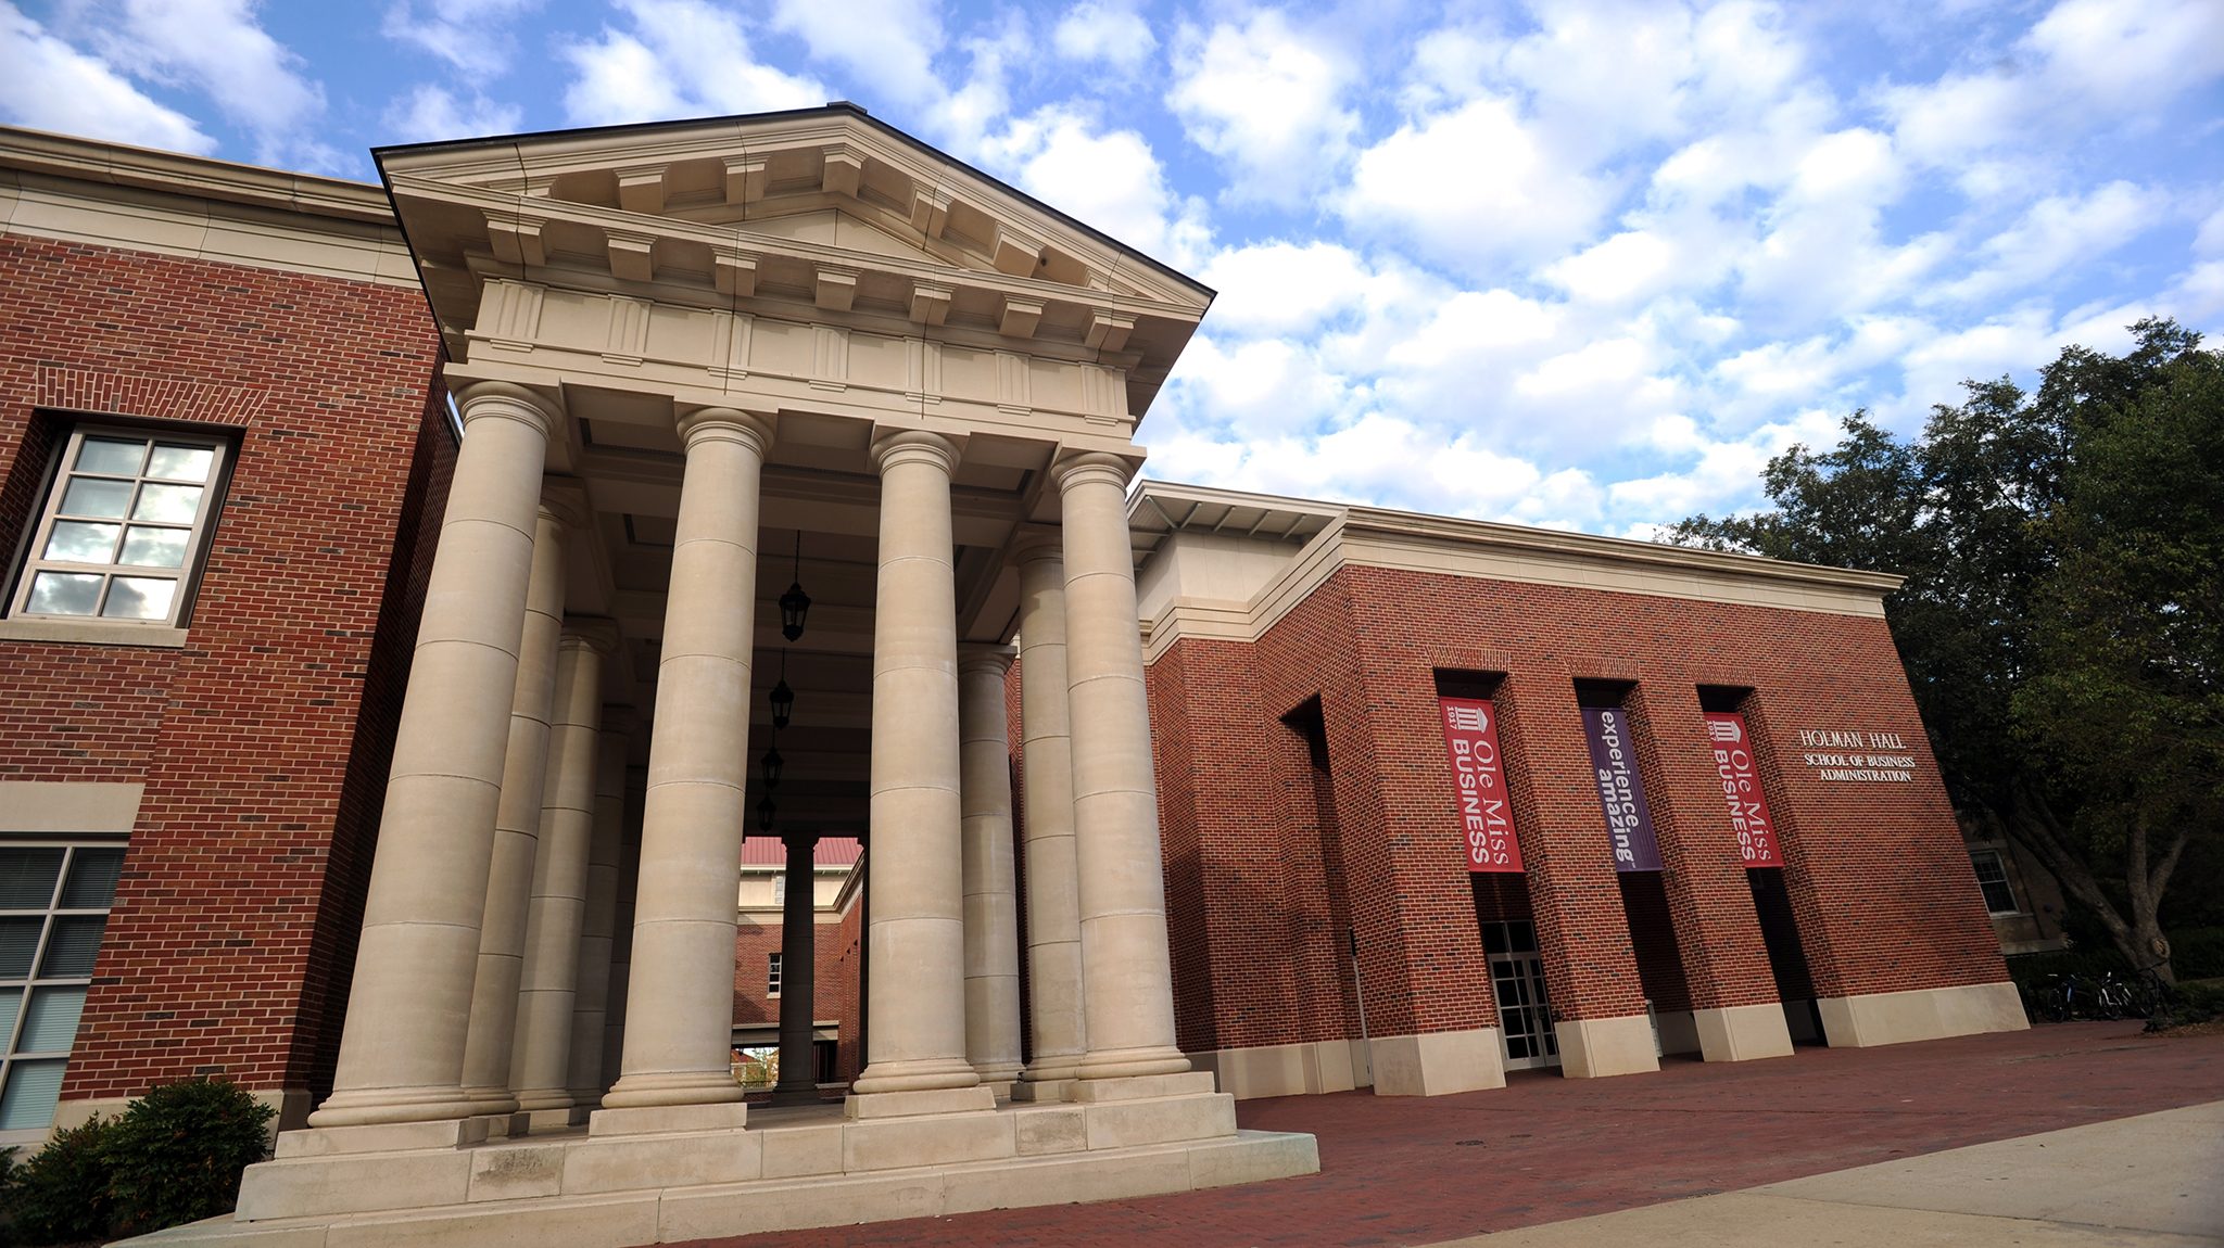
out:
{"label": "whole upper multi-pane window with white frame in left brick wall", "polygon": [[222,469],[214,437],[71,429],[9,615],[178,624]]}

